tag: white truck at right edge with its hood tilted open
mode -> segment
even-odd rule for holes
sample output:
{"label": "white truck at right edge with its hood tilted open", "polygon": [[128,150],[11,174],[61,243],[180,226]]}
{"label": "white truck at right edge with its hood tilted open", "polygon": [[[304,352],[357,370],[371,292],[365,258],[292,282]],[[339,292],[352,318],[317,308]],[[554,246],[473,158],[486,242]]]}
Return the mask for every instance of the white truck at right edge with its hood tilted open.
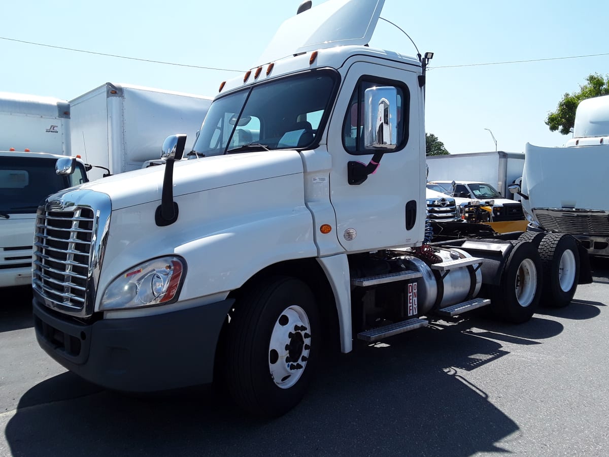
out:
{"label": "white truck at right edge with its hood tilted open", "polygon": [[590,255],[609,257],[609,96],[577,106],[565,147],[526,145],[522,197],[532,232],[571,233]]}

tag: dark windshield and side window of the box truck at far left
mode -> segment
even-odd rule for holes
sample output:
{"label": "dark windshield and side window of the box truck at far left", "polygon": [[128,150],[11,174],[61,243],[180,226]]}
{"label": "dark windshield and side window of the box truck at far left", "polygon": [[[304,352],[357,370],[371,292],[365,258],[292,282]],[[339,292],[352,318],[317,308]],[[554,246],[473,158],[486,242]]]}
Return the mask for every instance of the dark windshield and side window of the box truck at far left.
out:
{"label": "dark windshield and side window of the box truck at far left", "polygon": [[0,156],[0,213],[34,213],[49,195],[83,182],[79,166],[74,174],[58,175],[54,158]]}

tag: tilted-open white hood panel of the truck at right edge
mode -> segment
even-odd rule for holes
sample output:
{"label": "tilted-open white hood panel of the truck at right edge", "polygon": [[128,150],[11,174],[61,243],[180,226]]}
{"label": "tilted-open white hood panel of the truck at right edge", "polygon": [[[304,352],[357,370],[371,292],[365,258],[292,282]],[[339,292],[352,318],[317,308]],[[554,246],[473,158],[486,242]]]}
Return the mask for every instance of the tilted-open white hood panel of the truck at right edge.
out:
{"label": "tilted-open white hood panel of the truck at right edge", "polygon": [[530,208],[608,210],[607,146],[539,147],[526,145],[523,194]]}

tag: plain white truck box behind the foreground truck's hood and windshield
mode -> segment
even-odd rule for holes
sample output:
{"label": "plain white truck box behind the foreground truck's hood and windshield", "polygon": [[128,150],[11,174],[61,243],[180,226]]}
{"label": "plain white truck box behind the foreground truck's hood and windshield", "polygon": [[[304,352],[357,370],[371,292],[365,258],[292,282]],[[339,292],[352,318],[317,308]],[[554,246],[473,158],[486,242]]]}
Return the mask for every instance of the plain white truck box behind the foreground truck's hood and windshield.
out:
{"label": "plain white truck box behind the foreground truck's hood and windshield", "polygon": [[[163,140],[194,133],[211,97],[107,82],[70,101],[72,154],[119,174],[160,157]],[[100,168],[90,179],[104,175]]]}

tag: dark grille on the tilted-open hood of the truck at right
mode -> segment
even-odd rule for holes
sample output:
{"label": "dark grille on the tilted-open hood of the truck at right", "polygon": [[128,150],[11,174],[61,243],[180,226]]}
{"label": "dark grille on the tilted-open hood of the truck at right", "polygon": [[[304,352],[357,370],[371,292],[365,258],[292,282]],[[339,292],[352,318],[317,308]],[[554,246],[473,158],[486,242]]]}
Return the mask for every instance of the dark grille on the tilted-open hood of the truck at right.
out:
{"label": "dark grille on the tilted-open hood of the truck at right", "polygon": [[609,213],[586,210],[535,210],[535,218],[550,232],[609,236]]}

